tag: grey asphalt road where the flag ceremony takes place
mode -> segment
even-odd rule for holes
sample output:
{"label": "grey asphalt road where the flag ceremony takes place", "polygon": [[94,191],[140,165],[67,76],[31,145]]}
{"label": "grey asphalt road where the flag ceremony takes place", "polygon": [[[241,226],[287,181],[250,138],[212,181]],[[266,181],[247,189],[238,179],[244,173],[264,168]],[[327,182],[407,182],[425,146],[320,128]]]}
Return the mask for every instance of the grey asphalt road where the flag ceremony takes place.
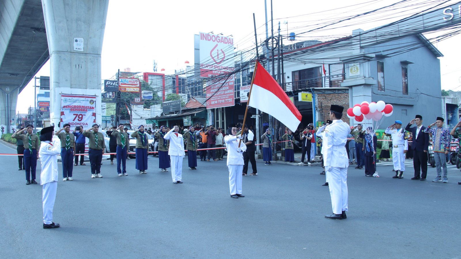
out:
{"label": "grey asphalt road where the flag ceremony takes place", "polygon": [[103,178],[91,179],[89,165],[74,168],[74,181],[59,177],[61,228],[42,229],[41,186],[25,185],[17,157],[0,159],[0,258],[461,258],[458,170],[441,183],[392,179],[390,166],[378,167],[379,178],[350,167],[348,218],[331,220],[315,164],[258,161],[258,175],[243,177],[246,197],[231,199],[225,160],[189,170],[185,159],[183,184],[151,156],[145,175],[134,160],[122,177],[105,161]]}

